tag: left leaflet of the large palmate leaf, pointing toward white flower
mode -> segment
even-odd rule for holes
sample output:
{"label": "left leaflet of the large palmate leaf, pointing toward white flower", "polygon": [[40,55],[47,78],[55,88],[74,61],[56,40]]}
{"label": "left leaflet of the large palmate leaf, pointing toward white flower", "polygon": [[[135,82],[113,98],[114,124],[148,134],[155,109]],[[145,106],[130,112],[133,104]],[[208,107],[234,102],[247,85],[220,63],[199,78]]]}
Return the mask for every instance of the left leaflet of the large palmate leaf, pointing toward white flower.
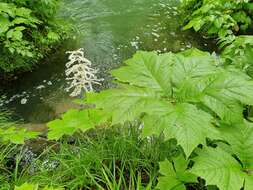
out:
{"label": "left leaflet of the large palmate leaf, pointing toward white flower", "polygon": [[87,94],[87,102],[96,104],[112,116],[112,123],[133,121],[142,113],[161,112],[165,105],[161,94],[148,88],[121,85],[118,89]]}

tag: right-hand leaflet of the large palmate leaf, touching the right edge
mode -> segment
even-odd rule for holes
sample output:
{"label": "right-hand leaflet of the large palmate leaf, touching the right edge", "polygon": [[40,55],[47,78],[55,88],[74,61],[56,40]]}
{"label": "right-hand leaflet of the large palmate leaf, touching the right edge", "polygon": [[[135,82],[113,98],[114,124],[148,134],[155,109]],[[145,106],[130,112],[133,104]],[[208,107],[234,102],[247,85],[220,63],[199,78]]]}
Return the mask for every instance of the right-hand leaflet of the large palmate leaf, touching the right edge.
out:
{"label": "right-hand leaflet of the large palmate leaf, touching the right edge", "polygon": [[[177,83],[177,99],[202,103],[226,122],[242,122],[241,104],[253,103],[251,96],[253,82],[249,77],[241,72],[225,71],[221,68],[205,76],[191,77],[191,75],[187,72],[185,79]],[[178,81],[178,77],[176,80]]]}

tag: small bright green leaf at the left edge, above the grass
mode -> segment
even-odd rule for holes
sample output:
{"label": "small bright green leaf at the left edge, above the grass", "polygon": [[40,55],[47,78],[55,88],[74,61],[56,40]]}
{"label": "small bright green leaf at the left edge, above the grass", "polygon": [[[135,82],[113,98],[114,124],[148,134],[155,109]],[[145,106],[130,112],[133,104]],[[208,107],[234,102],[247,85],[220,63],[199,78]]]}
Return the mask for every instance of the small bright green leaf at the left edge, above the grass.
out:
{"label": "small bright green leaf at the left edge, above the grass", "polygon": [[17,127],[0,128],[0,141],[14,144],[24,144],[25,140],[35,138],[38,132],[27,131]]}

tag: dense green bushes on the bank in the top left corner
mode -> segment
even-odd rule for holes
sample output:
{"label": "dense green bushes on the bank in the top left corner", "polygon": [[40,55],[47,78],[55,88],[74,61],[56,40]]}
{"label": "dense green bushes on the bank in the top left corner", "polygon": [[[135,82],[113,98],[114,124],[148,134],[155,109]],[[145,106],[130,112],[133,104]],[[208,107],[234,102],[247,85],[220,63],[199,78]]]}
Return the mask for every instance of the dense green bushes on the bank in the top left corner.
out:
{"label": "dense green bushes on the bank in the top left corner", "polygon": [[58,0],[3,0],[0,3],[0,72],[31,69],[67,37],[55,18]]}

